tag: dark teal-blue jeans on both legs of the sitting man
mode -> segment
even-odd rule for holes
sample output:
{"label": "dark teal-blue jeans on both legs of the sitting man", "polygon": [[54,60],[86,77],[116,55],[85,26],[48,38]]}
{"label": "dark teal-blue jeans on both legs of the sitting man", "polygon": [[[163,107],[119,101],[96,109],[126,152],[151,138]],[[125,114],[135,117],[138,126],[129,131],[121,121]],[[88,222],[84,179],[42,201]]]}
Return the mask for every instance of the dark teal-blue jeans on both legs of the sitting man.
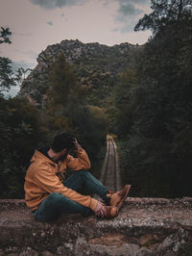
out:
{"label": "dark teal-blue jeans on both legs of the sitting man", "polygon": [[[90,192],[100,195],[104,201],[108,200],[108,189],[87,170],[74,171],[63,185],[76,192],[85,187]],[[58,218],[61,214],[74,213],[88,216],[91,210],[59,192],[53,192],[42,201],[34,215],[37,220],[44,222]]]}

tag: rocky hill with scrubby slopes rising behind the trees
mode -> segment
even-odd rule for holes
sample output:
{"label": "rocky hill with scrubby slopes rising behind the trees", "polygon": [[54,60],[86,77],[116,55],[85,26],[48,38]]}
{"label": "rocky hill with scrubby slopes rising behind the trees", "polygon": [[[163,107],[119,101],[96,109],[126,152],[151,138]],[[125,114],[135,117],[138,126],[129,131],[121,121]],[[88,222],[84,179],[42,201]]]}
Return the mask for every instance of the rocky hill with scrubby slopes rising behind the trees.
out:
{"label": "rocky hill with scrubby slopes rising behind the trees", "polygon": [[89,100],[97,105],[104,99],[117,81],[120,72],[134,64],[139,45],[128,42],[107,46],[99,43],[83,43],[79,40],[62,40],[49,45],[37,58],[37,65],[23,82],[19,94],[41,104],[49,87],[48,76],[52,64],[61,52],[74,70],[78,83],[89,90]]}

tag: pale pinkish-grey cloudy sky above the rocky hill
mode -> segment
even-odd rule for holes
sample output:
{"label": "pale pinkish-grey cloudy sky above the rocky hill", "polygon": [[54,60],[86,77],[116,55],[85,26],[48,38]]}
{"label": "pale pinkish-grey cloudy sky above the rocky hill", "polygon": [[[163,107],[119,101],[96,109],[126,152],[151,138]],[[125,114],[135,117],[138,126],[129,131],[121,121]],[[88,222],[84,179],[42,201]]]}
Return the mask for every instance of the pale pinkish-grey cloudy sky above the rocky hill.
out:
{"label": "pale pinkish-grey cloudy sky above the rocky hill", "polygon": [[37,55],[64,39],[106,45],[143,44],[151,32],[134,32],[150,0],[0,0],[0,26],[12,31],[12,44],[0,56],[15,66],[35,67]]}

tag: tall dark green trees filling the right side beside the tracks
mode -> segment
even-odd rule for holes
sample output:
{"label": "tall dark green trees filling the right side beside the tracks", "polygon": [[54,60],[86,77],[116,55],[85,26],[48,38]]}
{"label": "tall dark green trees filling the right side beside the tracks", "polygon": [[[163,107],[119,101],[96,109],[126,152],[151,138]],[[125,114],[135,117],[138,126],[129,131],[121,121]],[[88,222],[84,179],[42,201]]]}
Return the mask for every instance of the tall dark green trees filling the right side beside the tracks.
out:
{"label": "tall dark green trees filling the right side beside the tracks", "polygon": [[171,20],[156,30],[114,97],[123,181],[139,196],[192,195],[191,16]]}

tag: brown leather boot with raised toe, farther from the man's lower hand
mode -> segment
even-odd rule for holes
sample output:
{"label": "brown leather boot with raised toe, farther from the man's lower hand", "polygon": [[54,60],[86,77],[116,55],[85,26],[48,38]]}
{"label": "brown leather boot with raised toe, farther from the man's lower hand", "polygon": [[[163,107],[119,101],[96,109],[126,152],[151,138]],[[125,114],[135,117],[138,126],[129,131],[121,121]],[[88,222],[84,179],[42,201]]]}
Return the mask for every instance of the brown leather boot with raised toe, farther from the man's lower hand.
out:
{"label": "brown leather boot with raised toe, farther from the man's lower hand", "polygon": [[119,210],[122,206],[123,201],[127,198],[131,187],[131,185],[126,185],[124,189],[120,192],[108,193],[108,197],[110,197],[109,205],[116,206]]}

